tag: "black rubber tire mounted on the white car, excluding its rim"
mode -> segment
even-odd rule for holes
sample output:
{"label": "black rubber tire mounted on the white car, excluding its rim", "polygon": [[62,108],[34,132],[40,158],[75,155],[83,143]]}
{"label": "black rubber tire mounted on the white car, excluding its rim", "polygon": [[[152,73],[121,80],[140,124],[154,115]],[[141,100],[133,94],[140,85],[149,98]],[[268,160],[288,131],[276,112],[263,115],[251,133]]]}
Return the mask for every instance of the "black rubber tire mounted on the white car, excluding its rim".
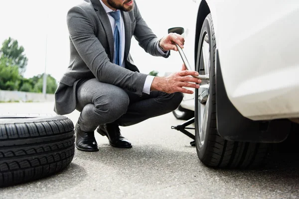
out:
{"label": "black rubber tire mounted on the white car, excluding its rim", "polygon": [[[215,33],[214,33],[214,25],[212,20],[212,15],[208,14],[203,26],[208,22],[210,27],[210,34],[212,39],[212,48],[213,52],[216,50],[216,42],[215,42]],[[202,34],[202,33],[201,33]],[[200,41],[201,42],[201,41]],[[200,44],[201,45],[201,44]],[[200,46],[199,45],[199,46]],[[200,50],[198,51],[200,52]],[[215,53],[213,53],[213,66],[215,67]],[[200,60],[200,59],[199,59]],[[212,69],[211,69],[212,70]],[[214,69],[215,71],[215,69]],[[249,142],[234,142],[223,139],[218,131],[217,131],[217,121],[216,121],[216,89],[215,89],[215,73],[213,74],[213,86],[212,92],[210,95],[211,100],[211,113],[210,113],[210,123],[208,136],[205,140],[206,149],[204,155],[199,155],[200,152],[198,147],[197,154],[199,159],[207,166],[216,167],[216,168],[255,168],[259,167],[268,154],[269,144],[265,143],[249,143]],[[196,100],[196,99],[195,99]],[[197,111],[195,111],[196,113]],[[196,116],[195,116],[196,118]],[[195,119],[196,120],[196,119]],[[195,125],[196,126],[196,125]],[[196,136],[199,135],[195,133]],[[196,142],[197,145],[197,142]],[[201,147],[204,148],[204,147]],[[201,149],[202,150],[202,149]]]}

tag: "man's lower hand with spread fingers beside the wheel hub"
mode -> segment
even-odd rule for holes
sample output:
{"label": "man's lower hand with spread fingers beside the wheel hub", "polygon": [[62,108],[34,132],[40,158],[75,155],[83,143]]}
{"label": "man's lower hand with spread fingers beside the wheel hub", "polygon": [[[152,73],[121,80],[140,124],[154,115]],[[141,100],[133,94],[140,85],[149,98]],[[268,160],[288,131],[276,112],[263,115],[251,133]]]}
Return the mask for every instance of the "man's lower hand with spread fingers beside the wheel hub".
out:
{"label": "man's lower hand with spread fingers beside the wheel hub", "polygon": [[[150,90],[151,91],[162,91],[165,93],[181,92],[185,94],[193,94],[193,91],[184,89],[182,87],[198,89],[201,80],[190,77],[198,76],[196,71],[186,71],[186,67],[183,64],[182,71],[173,73],[167,77],[154,77]],[[198,83],[198,84],[194,84]]]}

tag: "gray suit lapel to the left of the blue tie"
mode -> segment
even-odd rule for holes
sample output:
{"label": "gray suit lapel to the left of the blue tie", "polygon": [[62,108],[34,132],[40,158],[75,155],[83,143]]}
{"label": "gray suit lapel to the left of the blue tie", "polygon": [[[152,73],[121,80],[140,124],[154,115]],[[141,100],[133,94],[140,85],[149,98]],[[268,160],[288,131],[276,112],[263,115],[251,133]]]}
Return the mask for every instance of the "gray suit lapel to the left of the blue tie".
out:
{"label": "gray suit lapel to the left of the blue tie", "polygon": [[91,0],[91,2],[106,32],[111,57],[110,61],[112,62],[112,60],[114,59],[114,39],[108,15],[104,7],[102,6],[100,0]]}

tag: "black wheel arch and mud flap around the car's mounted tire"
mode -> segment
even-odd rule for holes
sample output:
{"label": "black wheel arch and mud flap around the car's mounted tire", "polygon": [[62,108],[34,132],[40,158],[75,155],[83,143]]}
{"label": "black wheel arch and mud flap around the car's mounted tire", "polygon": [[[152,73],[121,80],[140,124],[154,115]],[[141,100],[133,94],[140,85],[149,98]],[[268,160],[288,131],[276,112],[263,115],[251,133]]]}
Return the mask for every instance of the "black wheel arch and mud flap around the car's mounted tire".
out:
{"label": "black wheel arch and mud flap around the car's mounted tire", "polygon": [[[217,14],[215,9],[215,2],[212,0],[201,0],[197,13],[196,20],[196,33],[195,33],[195,49],[194,58],[198,54],[199,38],[201,28],[206,16],[211,13],[215,42],[217,43]],[[214,14],[213,14],[214,13]],[[219,48],[216,48],[215,55],[215,82],[216,82],[216,117],[217,117],[217,130],[220,136],[230,141],[242,141],[242,142],[266,142],[266,143],[278,143],[284,141],[289,131],[284,130],[291,128],[291,122],[283,120],[270,120],[270,121],[253,121],[244,117],[228,99],[225,85],[223,82],[221,72]],[[234,118],[234,119],[232,119]]]}

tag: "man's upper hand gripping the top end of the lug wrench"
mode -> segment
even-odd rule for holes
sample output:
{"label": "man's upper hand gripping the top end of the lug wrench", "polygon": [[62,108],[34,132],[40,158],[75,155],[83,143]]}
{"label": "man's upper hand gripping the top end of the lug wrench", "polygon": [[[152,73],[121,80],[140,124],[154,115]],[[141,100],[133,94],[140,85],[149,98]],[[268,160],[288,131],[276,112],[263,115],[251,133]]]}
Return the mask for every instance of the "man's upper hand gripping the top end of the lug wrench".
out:
{"label": "man's upper hand gripping the top end of the lug wrench", "polygon": [[185,39],[179,34],[169,33],[168,35],[164,36],[161,39],[160,46],[161,48],[163,48],[164,51],[168,51],[168,50],[177,51],[175,43],[177,43],[179,47],[184,48]]}

